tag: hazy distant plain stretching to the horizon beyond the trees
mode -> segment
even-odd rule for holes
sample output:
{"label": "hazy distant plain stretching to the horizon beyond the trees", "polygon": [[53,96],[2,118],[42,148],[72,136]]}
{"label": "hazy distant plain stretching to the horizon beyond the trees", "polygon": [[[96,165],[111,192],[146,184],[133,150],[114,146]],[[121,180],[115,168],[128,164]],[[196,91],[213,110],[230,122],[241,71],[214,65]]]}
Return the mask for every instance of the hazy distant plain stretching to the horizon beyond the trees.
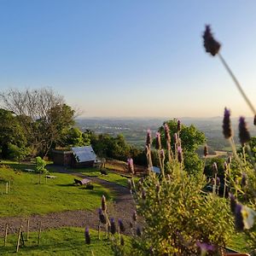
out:
{"label": "hazy distant plain stretching to the horizon beyond the trees", "polygon": [[[172,119],[172,118],[169,118]],[[203,131],[207,137],[207,144],[212,150],[228,150],[230,145],[222,134],[222,117],[214,118],[181,118],[184,125],[195,125],[199,131]],[[160,125],[167,119],[104,119],[104,118],[79,118],[77,125],[82,131],[90,129],[96,133],[108,133],[116,136],[122,133],[128,143],[137,147],[144,147],[148,129],[152,134],[158,130]],[[231,119],[235,134],[235,142],[239,143],[237,137],[238,119]],[[247,118],[247,124],[252,136],[256,136],[253,127],[253,119]]]}

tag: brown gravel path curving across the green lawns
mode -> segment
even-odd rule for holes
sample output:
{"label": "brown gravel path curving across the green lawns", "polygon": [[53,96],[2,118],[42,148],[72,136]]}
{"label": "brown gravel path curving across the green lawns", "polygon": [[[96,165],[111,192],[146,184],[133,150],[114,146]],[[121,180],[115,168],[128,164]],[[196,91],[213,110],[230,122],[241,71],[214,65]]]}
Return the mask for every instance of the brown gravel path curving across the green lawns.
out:
{"label": "brown gravel path curving across the green lawns", "polygon": [[[93,182],[99,183],[105,188],[112,190],[116,197],[113,204],[111,204],[111,206],[108,205],[108,216],[110,218],[114,218],[116,221],[118,220],[118,218],[121,218],[124,221],[124,224],[128,227],[131,220],[132,212],[135,209],[135,205],[131,199],[129,189],[119,184],[110,183],[97,177],[87,177],[79,172],[68,172],[61,166],[55,166],[55,172],[69,173],[81,178],[90,178]],[[40,221],[42,222],[42,230],[52,228],[57,229],[64,226],[90,226],[91,229],[96,230],[98,224],[98,213],[97,209],[95,211],[78,210],[67,212],[51,212],[44,216],[32,215],[29,219],[31,231],[38,230],[38,224]],[[9,233],[15,233],[19,229],[20,224],[23,225],[24,231],[26,230],[25,218],[4,217],[0,218],[0,236],[4,236],[5,224],[9,224]]]}

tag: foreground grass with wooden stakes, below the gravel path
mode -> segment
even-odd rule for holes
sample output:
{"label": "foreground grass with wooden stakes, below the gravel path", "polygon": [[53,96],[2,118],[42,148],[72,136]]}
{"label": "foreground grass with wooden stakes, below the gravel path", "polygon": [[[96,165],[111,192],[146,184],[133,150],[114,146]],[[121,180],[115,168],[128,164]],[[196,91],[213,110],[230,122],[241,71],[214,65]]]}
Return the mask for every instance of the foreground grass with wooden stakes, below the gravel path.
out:
{"label": "foreground grass with wooden stakes, below the gravel path", "polygon": [[[24,234],[24,239],[26,234]],[[45,230],[41,233],[38,246],[38,232],[30,233],[25,247],[20,247],[16,252],[17,234],[8,236],[7,246],[3,247],[3,239],[0,242],[0,255],[113,255],[111,242],[102,233],[101,241],[98,240],[97,231],[90,230],[90,245],[84,242],[84,229],[62,228],[58,230]]]}

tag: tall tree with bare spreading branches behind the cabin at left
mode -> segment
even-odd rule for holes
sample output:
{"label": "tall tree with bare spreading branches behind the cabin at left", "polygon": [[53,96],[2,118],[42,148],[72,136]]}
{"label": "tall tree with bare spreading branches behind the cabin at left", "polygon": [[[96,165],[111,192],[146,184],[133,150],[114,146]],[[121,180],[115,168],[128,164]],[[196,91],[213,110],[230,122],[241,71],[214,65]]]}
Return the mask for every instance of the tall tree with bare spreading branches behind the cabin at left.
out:
{"label": "tall tree with bare spreading branches behind the cabin at left", "polygon": [[74,124],[74,110],[53,90],[8,90],[0,93],[3,107],[15,113],[32,155],[46,155],[49,148]]}

